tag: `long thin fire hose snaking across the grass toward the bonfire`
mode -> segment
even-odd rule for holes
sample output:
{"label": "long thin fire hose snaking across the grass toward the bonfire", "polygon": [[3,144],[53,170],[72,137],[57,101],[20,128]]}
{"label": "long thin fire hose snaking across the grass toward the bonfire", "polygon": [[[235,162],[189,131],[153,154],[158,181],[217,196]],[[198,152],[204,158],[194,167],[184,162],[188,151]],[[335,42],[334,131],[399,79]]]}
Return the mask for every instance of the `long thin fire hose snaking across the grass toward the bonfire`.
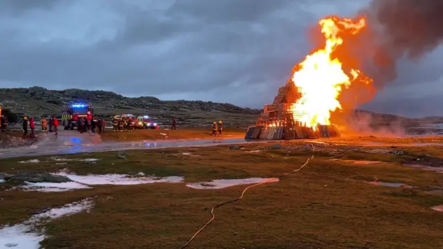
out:
{"label": "long thin fire hose snaking across the grass toward the bonfire", "polygon": [[214,210],[215,210],[215,209],[220,208],[220,207],[223,206],[223,205],[227,205],[227,204],[229,204],[229,203],[234,203],[234,202],[236,202],[236,201],[239,201],[240,199],[243,198],[243,196],[244,196],[244,194],[246,193],[246,191],[248,191],[248,190],[249,190],[250,188],[252,188],[252,187],[255,187],[255,186],[258,186],[258,185],[263,185],[263,184],[266,184],[266,183],[272,183],[272,182],[275,181],[275,180],[280,180],[280,178],[282,178],[283,176],[287,176],[287,175],[290,175],[290,174],[293,174],[293,173],[296,173],[296,172],[300,171],[303,167],[305,167],[305,166],[309,163],[309,160],[311,160],[311,159],[314,158],[314,152],[315,152],[316,148],[315,148],[314,145],[312,145],[312,144],[311,144],[311,147],[312,147],[312,155],[309,156],[309,158],[307,158],[306,162],[305,162],[303,165],[301,165],[300,167],[298,167],[298,169],[294,169],[294,170],[291,171],[291,172],[287,172],[287,173],[281,174],[280,176],[276,176],[276,177],[274,177],[274,178],[270,178],[270,179],[268,179],[267,181],[263,181],[263,182],[261,182],[261,183],[256,183],[256,184],[254,184],[254,185],[248,186],[248,187],[246,187],[246,188],[243,190],[242,194],[241,194],[237,199],[233,199],[233,200],[230,200],[230,201],[225,201],[224,203],[219,203],[219,204],[215,205],[215,207],[214,207],[213,209],[210,210],[210,214],[211,214],[212,218],[211,218],[208,222],[206,222],[206,224],[203,225],[203,226],[202,226],[197,232],[195,232],[195,234],[192,235],[192,237],[188,240],[188,242],[186,242],[186,244],[184,244],[180,249],[183,249],[183,248],[186,248],[187,246],[189,246],[189,244],[195,239],[195,237],[197,237],[197,235],[198,235],[201,231],[203,231],[203,230],[204,230],[204,229],[205,229],[205,228],[206,228],[211,222],[214,221],[214,219],[215,219]]}

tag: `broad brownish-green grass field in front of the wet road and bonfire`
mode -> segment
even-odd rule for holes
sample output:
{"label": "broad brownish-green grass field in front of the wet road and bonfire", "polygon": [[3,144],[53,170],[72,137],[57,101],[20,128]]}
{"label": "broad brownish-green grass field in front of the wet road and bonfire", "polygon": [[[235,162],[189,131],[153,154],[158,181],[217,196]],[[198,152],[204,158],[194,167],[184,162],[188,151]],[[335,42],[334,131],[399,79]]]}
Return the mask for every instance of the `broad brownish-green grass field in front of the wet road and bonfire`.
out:
{"label": "broad brownish-green grass field in front of the wet road and bonfire", "polygon": [[[184,176],[187,183],[226,178],[272,177],[296,169],[311,156],[307,145],[284,142],[281,149],[244,145],[155,151],[80,154],[65,158],[100,158],[91,165],[68,161],[56,165],[0,160],[0,172]],[[320,145],[318,145],[320,146]],[[256,151],[257,150],[257,151]],[[248,153],[247,151],[254,151]],[[328,151],[334,151],[329,154]],[[426,151],[408,147],[403,155],[370,154],[338,147],[319,150],[311,162],[278,183],[252,188],[244,199],[215,210],[217,219],[188,248],[443,248],[443,213],[431,210],[443,196],[428,194],[443,187],[443,174],[401,166]],[[185,154],[183,154],[185,153]],[[438,149],[430,156],[439,158]],[[354,164],[343,160],[387,163]],[[48,162],[44,162],[48,161]],[[414,188],[382,187],[364,181],[407,183]],[[0,183],[0,224],[18,223],[31,214],[96,196],[90,212],[51,221],[42,242],[53,248],[180,248],[210,219],[210,209],[237,198],[245,185],[195,190],[184,183],[101,185],[71,192],[5,191]]]}

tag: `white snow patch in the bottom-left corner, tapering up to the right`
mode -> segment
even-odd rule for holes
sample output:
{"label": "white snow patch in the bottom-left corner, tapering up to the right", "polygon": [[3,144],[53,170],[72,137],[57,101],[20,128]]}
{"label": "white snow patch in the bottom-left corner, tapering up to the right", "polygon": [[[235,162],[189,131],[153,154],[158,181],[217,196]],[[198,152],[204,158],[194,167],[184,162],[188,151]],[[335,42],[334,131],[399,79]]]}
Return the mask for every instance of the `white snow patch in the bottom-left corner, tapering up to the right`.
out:
{"label": "white snow patch in the bottom-left corner, tapering up to the right", "polygon": [[0,248],[38,249],[40,242],[46,236],[42,232],[31,232],[36,229],[36,225],[47,222],[48,219],[58,219],[62,216],[89,210],[92,206],[92,199],[84,199],[77,203],[64,205],[62,208],[53,208],[41,214],[35,214],[23,223],[7,225],[0,230]]}

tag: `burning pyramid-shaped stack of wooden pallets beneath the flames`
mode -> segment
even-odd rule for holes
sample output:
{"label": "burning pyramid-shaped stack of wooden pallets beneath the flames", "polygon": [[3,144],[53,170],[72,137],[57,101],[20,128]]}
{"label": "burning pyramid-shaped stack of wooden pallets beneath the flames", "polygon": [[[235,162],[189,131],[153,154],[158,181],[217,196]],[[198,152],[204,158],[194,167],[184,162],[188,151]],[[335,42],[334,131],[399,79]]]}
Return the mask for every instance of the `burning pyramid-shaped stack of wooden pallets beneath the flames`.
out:
{"label": "burning pyramid-shaped stack of wooden pallets beneath the flames", "polygon": [[[272,104],[266,104],[254,127],[246,131],[245,139],[316,139],[339,137],[338,129],[332,125],[318,125],[316,129],[300,122],[300,113],[294,104],[302,97],[300,88],[290,79],[278,89]],[[300,118],[298,118],[300,117]]]}

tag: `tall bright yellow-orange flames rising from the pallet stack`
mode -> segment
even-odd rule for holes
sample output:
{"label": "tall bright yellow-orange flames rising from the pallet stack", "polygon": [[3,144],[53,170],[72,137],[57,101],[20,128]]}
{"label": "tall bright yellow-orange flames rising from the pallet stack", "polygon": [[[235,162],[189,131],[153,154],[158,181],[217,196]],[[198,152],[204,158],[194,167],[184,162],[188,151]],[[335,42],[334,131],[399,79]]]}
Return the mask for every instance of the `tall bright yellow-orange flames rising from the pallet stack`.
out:
{"label": "tall bright yellow-orange flames rising from the pallet stack", "polygon": [[333,57],[336,48],[346,42],[343,36],[358,34],[365,27],[365,19],[330,17],[318,24],[325,36],[325,46],[294,66],[292,76],[292,82],[302,93],[302,98],[291,107],[293,118],[314,128],[317,124],[330,124],[331,112],[342,109],[338,96],[343,89],[356,80],[372,82],[356,68],[343,71],[342,62]]}

